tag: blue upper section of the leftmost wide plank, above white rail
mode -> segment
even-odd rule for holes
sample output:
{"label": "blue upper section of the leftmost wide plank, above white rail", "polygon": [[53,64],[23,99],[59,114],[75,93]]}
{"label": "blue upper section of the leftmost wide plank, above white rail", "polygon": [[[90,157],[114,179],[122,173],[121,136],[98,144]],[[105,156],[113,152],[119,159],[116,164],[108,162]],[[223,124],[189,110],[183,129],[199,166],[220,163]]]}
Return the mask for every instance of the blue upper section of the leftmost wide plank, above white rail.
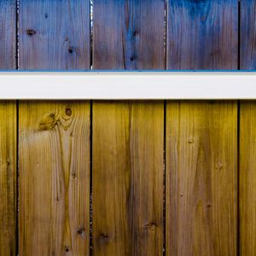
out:
{"label": "blue upper section of the leftmost wide plank, above white rail", "polygon": [[90,0],[20,0],[20,69],[89,69]]}

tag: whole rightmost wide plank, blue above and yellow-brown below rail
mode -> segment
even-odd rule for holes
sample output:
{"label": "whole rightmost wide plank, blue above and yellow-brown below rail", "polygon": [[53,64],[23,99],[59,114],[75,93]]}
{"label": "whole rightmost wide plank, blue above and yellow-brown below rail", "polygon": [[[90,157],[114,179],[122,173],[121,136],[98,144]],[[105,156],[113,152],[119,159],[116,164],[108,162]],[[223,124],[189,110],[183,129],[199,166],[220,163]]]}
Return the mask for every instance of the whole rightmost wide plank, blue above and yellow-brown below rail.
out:
{"label": "whole rightmost wide plank, blue above and yellow-brown below rail", "polygon": [[[236,69],[237,26],[235,0],[168,0],[167,69]],[[167,102],[166,255],[236,255],[236,122],[236,102]]]}

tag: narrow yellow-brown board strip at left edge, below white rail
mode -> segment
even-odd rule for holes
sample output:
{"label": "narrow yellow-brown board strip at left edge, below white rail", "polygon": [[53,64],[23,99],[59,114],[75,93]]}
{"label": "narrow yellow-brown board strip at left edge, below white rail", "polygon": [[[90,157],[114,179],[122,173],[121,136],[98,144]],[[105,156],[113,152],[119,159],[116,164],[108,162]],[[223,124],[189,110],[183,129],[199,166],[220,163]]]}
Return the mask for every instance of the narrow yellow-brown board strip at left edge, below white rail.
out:
{"label": "narrow yellow-brown board strip at left edge, below white rail", "polygon": [[16,255],[15,102],[0,102],[0,116],[0,255],[10,256]]}

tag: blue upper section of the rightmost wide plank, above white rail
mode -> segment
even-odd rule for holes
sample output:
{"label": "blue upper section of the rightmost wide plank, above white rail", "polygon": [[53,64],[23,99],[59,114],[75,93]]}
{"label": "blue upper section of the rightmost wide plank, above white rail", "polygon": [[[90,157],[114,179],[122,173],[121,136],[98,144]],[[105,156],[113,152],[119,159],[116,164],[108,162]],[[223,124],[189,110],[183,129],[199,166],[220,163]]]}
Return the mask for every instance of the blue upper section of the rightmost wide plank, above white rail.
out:
{"label": "blue upper section of the rightmost wide plank, above white rail", "polygon": [[168,0],[167,68],[236,69],[236,0]]}

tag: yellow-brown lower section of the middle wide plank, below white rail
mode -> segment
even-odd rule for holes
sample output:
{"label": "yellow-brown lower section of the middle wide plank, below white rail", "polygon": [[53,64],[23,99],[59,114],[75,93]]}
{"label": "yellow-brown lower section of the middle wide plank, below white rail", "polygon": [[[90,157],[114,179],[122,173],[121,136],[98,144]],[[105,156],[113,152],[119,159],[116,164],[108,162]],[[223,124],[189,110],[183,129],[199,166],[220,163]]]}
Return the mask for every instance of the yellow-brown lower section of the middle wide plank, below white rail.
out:
{"label": "yellow-brown lower section of the middle wide plank, below white rail", "polygon": [[162,254],[163,133],[162,102],[94,104],[95,255]]}

